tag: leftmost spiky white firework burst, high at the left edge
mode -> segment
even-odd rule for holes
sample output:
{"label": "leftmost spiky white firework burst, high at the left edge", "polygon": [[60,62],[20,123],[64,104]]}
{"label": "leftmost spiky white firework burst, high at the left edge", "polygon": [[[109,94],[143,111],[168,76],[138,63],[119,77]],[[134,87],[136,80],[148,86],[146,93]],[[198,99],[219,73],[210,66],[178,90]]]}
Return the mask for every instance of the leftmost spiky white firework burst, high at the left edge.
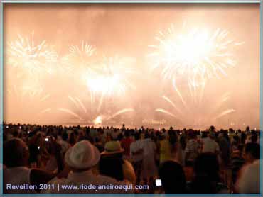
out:
{"label": "leftmost spiky white firework burst, high at the left edge", "polygon": [[46,40],[36,44],[34,33],[31,38],[23,38],[18,35],[18,40],[8,43],[6,62],[14,67],[25,69],[24,72],[36,74],[40,69],[51,72],[51,65],[57,61],[58,54]]}

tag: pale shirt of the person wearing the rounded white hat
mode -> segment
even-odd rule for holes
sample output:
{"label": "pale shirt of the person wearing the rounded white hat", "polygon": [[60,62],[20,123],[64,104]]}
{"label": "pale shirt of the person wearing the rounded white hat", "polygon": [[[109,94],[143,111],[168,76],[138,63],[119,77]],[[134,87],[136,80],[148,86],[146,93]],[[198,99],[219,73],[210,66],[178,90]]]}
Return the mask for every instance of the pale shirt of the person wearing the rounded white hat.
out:
{"label": "pale shirt of the person wearing the rounded white hat", "polygon": [[[55,190],[50,189],[46,191],[41,191],[41,193],[90,193],[90,194],[106,194],[106,193],[134,193],[133,190],[127,190],[124,189],[106,189],[106,190],[97,190],[94,189],[62,189],[62,186],[77,186],[80,188],[82,184],[85,186],[89,186],[92,184],[93,186],[107,186],[107,185],[114,185],[114,186],[124,186],[127,185],[127,187],[130,187],[131,184],[128,181],[118,182],[115,179],[112,179],[108,176],[102,176],[102,175],[95,175],[92,173],[91,170],[88,171],[82,171],[82,172],[70,172],[67,179],[52,179],[48,184],[54,184]],[[60,189],[58,191],[58,184],[60,186]]]}

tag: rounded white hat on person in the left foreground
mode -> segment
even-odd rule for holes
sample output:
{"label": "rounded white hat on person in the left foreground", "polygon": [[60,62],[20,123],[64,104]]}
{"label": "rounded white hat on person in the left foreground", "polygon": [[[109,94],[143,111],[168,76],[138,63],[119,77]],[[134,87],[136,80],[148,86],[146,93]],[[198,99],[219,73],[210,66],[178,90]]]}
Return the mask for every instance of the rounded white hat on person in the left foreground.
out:
{"label": "rounded white hat on person in the left foreground", "polygon": [[65,153],[65,162],[76,169],[94,167],[99,160],[99,150],[87,140],[77,142]]}

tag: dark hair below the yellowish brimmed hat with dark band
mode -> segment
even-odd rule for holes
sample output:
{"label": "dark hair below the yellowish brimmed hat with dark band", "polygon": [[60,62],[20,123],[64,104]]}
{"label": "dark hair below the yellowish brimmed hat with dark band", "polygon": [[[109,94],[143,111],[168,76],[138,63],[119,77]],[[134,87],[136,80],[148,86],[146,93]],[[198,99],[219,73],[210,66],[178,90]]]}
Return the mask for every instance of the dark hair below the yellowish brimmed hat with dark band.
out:
{"label": "dark hair below the yellowish brimmed hat with dark band", "polygon": [[123,163],[122,154],[104,155],[99,162],[100,174],[117,179],[117,181],[123,181]]}

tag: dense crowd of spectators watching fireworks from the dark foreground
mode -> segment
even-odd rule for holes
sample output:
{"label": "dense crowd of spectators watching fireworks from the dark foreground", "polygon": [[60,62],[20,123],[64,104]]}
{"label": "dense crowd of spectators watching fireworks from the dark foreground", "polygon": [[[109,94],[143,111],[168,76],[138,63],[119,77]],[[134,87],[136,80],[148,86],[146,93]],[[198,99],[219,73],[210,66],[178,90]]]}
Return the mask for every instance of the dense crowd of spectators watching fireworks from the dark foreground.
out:
{"label": "dense crowd of spectators watching fireworks from the dark foreground", "polygon": [[4,193],[259,193],[260,135],[4,123]]}

